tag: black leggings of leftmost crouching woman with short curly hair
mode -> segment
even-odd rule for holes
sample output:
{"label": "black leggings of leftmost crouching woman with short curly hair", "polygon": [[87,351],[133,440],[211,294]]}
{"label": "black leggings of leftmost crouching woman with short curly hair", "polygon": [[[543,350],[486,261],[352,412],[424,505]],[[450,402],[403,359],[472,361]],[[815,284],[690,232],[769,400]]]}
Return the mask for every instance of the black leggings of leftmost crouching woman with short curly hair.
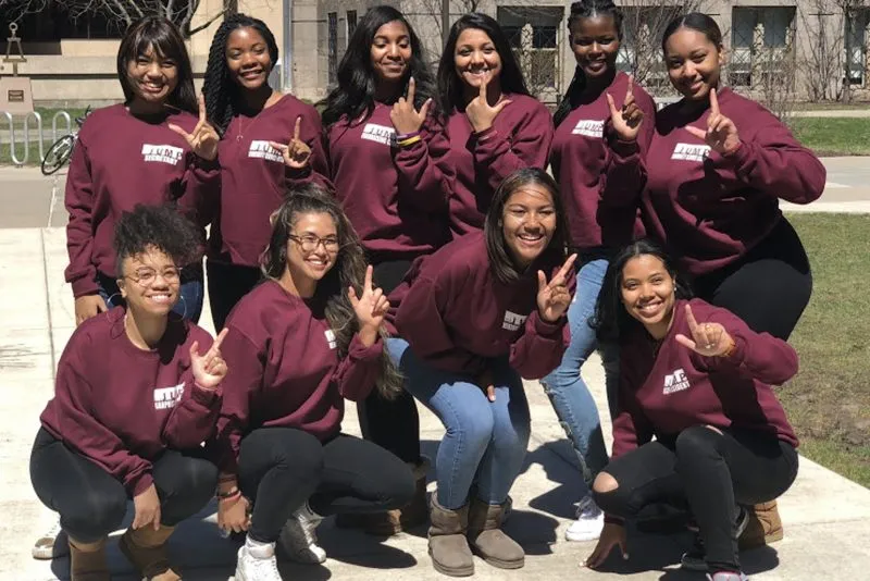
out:
{"label": "black leggings of leftmost crouching woman with short curly hair", "polygon": [[[174,527],[214,496],[217,468],[200,454],[167,449],[153,462],[162,524]],[[117,530],[130,499],[119,480],[45,428],[30,453],[30,482],[42,504],[60,514],[66,534],[80,543],[96,543]]]}

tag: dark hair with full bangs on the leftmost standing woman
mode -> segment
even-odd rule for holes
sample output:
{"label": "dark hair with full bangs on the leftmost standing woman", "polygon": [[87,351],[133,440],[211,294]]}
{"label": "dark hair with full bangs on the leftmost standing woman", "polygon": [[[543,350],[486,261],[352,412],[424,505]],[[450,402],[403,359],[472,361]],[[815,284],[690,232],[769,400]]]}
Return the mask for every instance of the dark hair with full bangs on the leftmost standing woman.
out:
{"label": "dark hair with full bangs on the leftmost standing woman", "polygon": [[184,46],[184,39],[178,28],[162,16],[145,16],[129,25],[117,47],[117,79],[124,90],[124,101],[129,103],[136,97],[133,81],[129,78],[127,66],[139,55],[148,50],[153,50],[158,57],[175,61],[178,70],[178,85],[169,97],[166,103],[196,114],[199,110],[197,92],[194,88],[194,70],[190,67],[190,57]]}

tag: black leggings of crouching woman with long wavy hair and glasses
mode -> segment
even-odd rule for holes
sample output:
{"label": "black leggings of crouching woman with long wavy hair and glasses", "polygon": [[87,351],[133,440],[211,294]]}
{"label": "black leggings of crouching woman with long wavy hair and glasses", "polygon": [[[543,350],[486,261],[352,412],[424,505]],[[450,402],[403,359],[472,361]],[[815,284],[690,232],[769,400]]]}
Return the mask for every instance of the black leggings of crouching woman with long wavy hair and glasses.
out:
{"label": "black leggings of crouching woman with long wavy hair and glasses", "polygon": [[322,443],[293,428],[260,428],[241,440],[241,492],[253,502],[248,534],[273,543],[306,500],[318,515],[380,512],[407,505],[410,468],[364,440],[340,434]]}

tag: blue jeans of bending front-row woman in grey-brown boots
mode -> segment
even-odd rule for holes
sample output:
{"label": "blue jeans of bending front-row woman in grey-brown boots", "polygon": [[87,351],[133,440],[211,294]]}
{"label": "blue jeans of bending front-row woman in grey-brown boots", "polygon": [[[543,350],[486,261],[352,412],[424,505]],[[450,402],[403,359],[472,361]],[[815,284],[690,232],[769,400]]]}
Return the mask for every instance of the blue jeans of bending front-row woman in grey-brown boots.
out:
{"label": "blue jeans of bending front-row woman in grey-brown boots", "polygon": [[506,502],[531,433],[523,382],[507,358],[493,360],[496,400],[489,401],[474,378],[430,366],[405,339],[387,339],[387,351],[405,374],[406,390],[447,429],[435,460],[438,504],[449,510],[465,506],[472,485],[484,503]]}

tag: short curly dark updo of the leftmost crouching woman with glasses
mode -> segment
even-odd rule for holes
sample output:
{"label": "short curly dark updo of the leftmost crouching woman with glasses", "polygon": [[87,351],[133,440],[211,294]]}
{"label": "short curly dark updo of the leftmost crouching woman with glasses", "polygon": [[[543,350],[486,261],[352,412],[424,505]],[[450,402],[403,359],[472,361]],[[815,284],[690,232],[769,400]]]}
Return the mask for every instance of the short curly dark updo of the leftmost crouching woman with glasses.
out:
{"label": "short curly dark updo of the leftmost crouching woman with glasses", "polygon": [[125,258],[151,249],[165,254],[179,267],[192,264],[202,256],[202,231],[172,206],[136,205],[115,224],[113,246],[115,272],[120,276]]}

